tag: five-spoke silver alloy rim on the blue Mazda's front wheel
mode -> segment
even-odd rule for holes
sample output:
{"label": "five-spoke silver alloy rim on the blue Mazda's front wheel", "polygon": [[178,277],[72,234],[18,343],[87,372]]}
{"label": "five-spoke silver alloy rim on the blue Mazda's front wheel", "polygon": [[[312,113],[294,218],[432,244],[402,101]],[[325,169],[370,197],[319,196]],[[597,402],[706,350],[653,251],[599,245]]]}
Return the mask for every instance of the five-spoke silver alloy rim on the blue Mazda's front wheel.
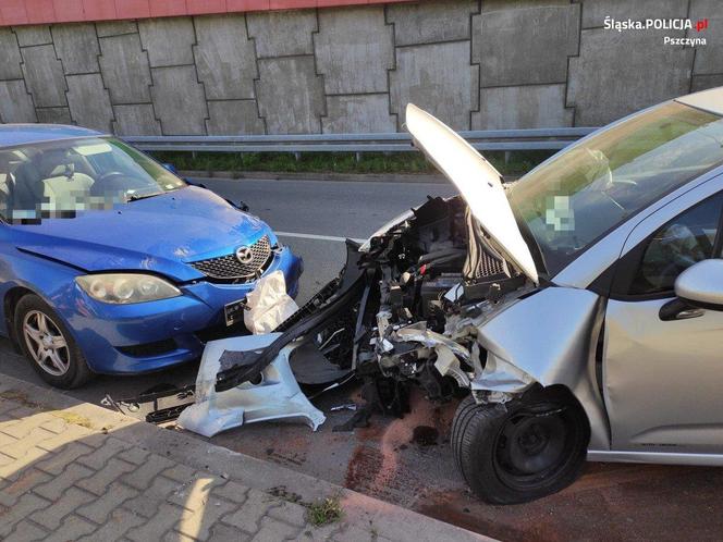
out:
{"label": "five-spoke silver alloy rim on the blue Mazda's front wheel", "polygon": [[33,360],[48,374],[62,377],[71,367],[68,341],[45,312],[32,310],[23,319],[23,336]]}

